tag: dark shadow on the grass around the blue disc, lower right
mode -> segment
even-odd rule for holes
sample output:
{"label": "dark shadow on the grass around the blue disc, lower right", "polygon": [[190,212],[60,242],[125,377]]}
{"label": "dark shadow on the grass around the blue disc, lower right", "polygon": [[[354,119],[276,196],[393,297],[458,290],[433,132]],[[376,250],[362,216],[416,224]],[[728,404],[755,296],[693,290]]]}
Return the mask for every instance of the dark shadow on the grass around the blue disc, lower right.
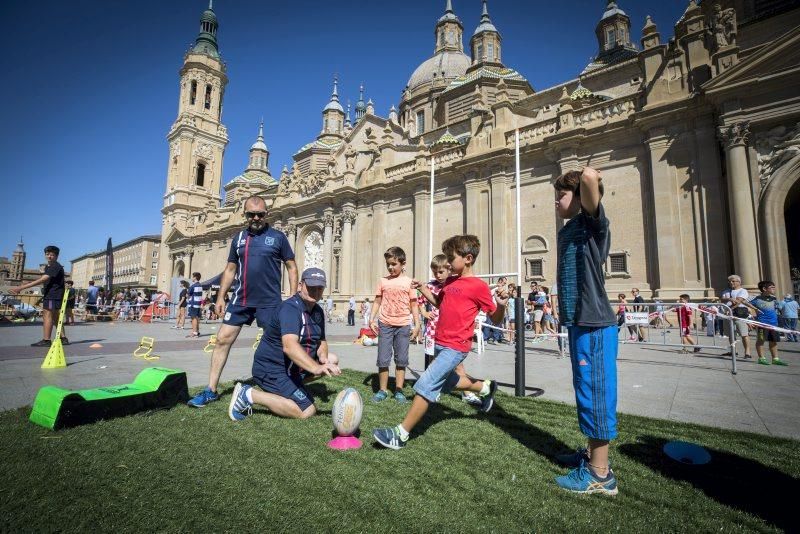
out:
{"label": "dark shadow on the grass around the blue disc, lower right", "polygon": [[[797,528],[794,510],[800,482],[758,461],[716,449],[707,449],[711,462],[685,465],[663,452],[667,440],[642,436],[638,443],[625,443],[620,453],[664,477],[688,482],[715,501],[756,515],[778,528]],[[794,488],[794,489],[792,489]]]}

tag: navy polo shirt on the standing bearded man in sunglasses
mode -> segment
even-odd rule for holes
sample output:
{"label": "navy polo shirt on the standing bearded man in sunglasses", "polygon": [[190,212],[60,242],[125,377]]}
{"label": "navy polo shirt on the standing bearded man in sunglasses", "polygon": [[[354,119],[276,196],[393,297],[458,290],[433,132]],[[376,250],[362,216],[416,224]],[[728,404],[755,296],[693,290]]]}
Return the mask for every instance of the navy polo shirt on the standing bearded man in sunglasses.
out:
{"label": "navy polo shirt on the standing bearded man in sunglasses", "polygon": [[236,264],[231,304],[269,308],[281,301],[283,263],[294,259],[283,232],[269,226],[254,234],[242,230],[233,236],[228,262]]}

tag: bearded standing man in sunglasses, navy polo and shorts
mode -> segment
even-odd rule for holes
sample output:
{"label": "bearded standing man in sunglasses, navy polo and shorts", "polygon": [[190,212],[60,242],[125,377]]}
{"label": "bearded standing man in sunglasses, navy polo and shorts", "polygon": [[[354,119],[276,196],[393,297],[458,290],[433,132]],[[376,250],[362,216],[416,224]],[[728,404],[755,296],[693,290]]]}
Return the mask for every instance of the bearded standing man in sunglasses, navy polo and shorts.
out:
{"label": "bearded standing man in sunglasses, navy polo and shorts", "polygon": [[[217,310],[222,316],[222,326],[211,355],[208,387],[189,401],[189,406],[196,408],[219,399],[217,384],[242,325],[252,324],[255,319],[266,331],[281,303],[281,264],[286,265],[289,274],[289,293],[297,293],[294,252],[283,232],[267,224],[264,199],[257,195],[248,198],[244,215],[248,226],[233,236],[228,265],[220,280]],[[225,295],[231,286],[233,296],[226,308]]]}

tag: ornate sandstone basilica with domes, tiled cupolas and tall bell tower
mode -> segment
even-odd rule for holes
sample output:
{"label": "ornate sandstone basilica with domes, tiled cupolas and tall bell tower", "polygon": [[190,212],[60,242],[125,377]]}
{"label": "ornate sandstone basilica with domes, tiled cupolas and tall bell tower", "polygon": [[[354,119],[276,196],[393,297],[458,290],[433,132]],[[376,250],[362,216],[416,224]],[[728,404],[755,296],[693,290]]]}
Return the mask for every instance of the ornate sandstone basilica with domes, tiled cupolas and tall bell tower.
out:
{"label": "ornate sandstone basilica with domes, tiled cupolas and tall bell tower", "polygon": [[597,36],[591,62],[535,88],[503,61],[506,47],[529,43],[504,41],[486,1],[482,12],[457,13],[447,0],[431,13],[433,55],[420,58],[385,116],[363,91],[345,109],[333,79],[321,130],[291,169],[271,174],[262,124],[247,168],[226,183],[228,78],[207,9],[167,135],[159,288],[174,293],[192,271],[222,271],[251,194],[267,199],[298,267],[325,269],[337,301],[372,295],[392,245],[406,250],[408,274],[427,277],[431,220],[434,253],[446,237],[471,233],[482,244],[478,272],[514,271],[518,138],[525,286],[555,282],[563,221],[553,180],[591,165],[612,222],[610,294],[638,287],[646,297],[702,299],[734,272],[745,286],[771,278],[790,291],[800,267],[797,3],[691,0],[679,20],[648,17],[636,30],[622,0],[605,4],[585,29]]}

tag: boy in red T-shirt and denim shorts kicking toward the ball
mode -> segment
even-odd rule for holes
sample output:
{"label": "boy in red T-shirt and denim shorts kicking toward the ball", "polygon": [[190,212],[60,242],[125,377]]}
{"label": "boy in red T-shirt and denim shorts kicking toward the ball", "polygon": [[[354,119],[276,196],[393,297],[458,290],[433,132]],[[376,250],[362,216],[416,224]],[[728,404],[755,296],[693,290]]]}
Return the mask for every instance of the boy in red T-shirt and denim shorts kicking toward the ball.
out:
{"label": "boy in red T-shirt and denim shorts kicking toward the ball", "polygon": [[459,389],[477,393],[482,401],[480,410],[484,413],[494,405],[497,382],[460,376],[456,372],[456,367],[472,347],[475,316],[483,310],[493,322],[499,323],[508,302],[505,289],[493,299],[486,282],[472,273],[480,248],[480,241],[474,235],[457,235],[442,243],[442,252],[450,262],[453,276],[445,281],[438,295],[433,295],[418,280],[413,281],[413,287],[439,308],[434,345],[436,359],[414,384],[416,395],[403,422],[393,428],[372,431],[375,441],[384,447],[397,450],[405,446],[411,430],[422,420],[428,406],[439,400],[442,392]]}

